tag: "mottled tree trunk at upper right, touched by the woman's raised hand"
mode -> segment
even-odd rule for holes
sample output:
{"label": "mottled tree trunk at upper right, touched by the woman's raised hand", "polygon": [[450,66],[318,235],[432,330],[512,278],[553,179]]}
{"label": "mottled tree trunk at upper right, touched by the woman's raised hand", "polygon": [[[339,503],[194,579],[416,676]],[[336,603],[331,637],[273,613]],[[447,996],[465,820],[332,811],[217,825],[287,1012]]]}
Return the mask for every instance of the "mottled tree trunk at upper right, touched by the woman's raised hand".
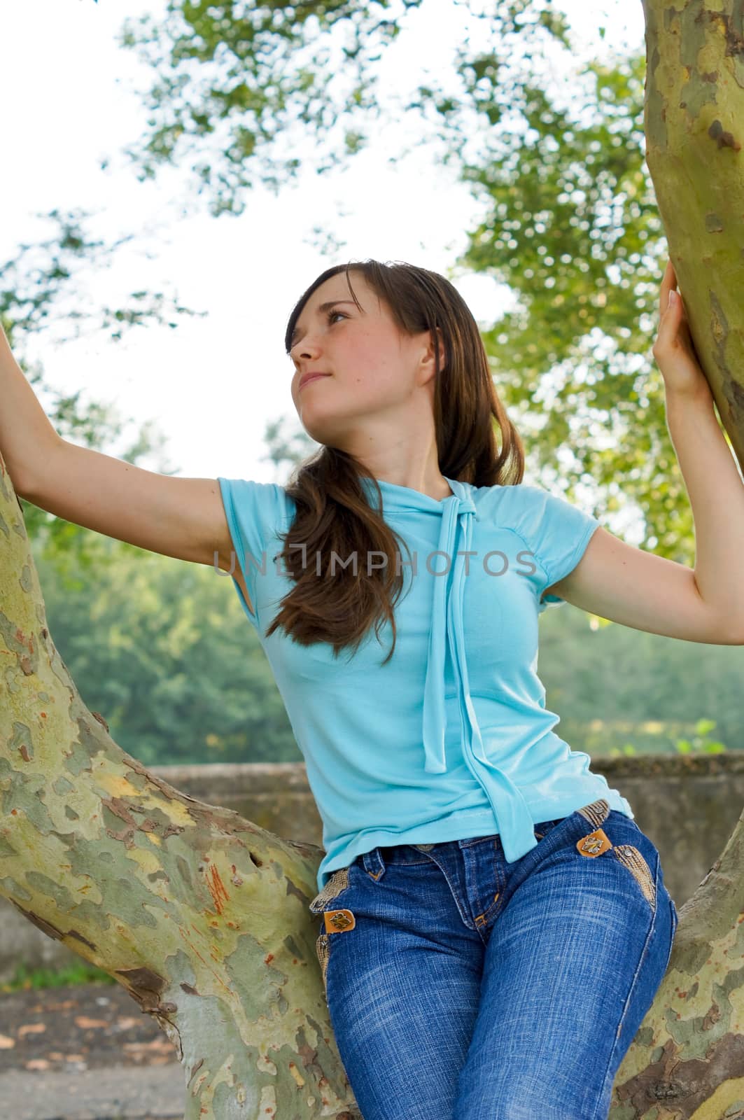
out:
{"label": "mottled tree trunk at upper right, touched by the woman's raised hand", "polygon": [[642,2],[647,162],[700,365],[744,469],[744,3]]}

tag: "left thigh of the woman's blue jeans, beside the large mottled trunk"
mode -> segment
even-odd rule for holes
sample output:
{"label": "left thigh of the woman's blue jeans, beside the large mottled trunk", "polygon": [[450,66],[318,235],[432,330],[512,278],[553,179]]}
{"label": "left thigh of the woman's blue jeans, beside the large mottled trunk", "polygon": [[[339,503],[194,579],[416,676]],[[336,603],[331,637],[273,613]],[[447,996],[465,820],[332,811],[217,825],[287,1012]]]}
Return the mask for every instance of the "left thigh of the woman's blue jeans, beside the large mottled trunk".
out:
{"label": "left thigh of the woman's blue jeans, beside the large mottled trunk", "polygon": [[418,857],[385,858],[381,881],[360,857],[313,904],[324,912],[331,1023],[364,1120],[452,1120],[478,1010],[483,941],[439,868]]}

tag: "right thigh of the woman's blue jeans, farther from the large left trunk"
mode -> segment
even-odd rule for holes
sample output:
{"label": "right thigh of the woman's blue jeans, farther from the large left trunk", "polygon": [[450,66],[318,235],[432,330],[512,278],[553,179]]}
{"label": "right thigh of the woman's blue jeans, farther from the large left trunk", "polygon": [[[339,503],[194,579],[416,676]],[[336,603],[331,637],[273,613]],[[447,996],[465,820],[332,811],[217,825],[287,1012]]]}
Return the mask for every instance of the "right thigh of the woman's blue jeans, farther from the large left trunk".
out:
{"label": "right thigh of the woman's blue jeans, farther from the large left trunk", "polygon": [[493,918],[457,1120],[606,1120],[677,914],[630,818],[612,811],[592,834],[574,813],[506,865],[524,866]]}

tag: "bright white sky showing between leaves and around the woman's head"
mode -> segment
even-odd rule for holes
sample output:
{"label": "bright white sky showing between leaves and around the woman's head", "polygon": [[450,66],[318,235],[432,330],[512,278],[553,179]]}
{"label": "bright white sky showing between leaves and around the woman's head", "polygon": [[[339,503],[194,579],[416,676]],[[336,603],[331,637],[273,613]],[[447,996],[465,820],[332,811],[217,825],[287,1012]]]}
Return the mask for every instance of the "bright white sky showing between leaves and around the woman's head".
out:
{"label": "bright white sky showing between leaves and around the woman's head", "polygon": [[[607,43],[642,47],[640,0],[594,6],[589,28],[586,0],[558,6],[590,37],[586,43],[604,24]],[[13,108],[2,122],[0,261],[21,242],[49,236],[54,226],[38,215],[55,207],[92,212],[86,228],[106,242],[165,216],[154,260],[120,250],[113,268],[90,277],[91,299],[105,295],[113,302],[117,295],[165,284],[182,304],[206,311],[204,318],[184,317],[177,330],[136,328],[118,344],[101,334],[61,346],[45,332],[25,339],[24,352],[43,363],[54,388],[83,388],[87,399],[112,401],[138,422],[154,419],[167,437],[169,467],[180,475],[283,480],[260,457],[268,420],[297,422],[283,351],[296,299],[318,273],[350,258],[403,260],[447,276],[481,204],[430,152],[389,167],[388,134],[345,174],[308,172],[277,197],[259,188],[238,218],[210,217],[205,207],[204,216],[184,221],[177,196],[186,172],[168,170],[156,184],[140,184],[120,156],[143,131],[147,114],[136,91],[147,88],[148,72],[117,45],[117,32],[127,16],[164,10],[165,0],[3,6],[0,92],[2,104]],[[385,81],[404,75],[404,92],[427,69],[452,71],[463,18],[454,0],[426,0],[394,45]],[[104,157],[108,171],[100,168]],[[341,250],[319,252],[310,241],[315,226],[333,234]],[[484,327],[497,318],[504,293],[491,280],[452,279]]]}

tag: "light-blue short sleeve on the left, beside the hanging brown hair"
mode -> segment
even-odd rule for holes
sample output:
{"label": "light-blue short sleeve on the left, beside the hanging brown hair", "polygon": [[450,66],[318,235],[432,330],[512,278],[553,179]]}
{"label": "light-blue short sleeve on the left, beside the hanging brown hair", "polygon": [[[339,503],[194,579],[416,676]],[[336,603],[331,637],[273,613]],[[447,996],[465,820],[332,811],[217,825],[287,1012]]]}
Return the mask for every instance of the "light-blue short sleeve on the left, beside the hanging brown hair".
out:
{"label": "light-blue short sleeve on the left, beside the hanging brown hair", "polygon": [[[286,492],[276,483],[254,483],[244,478],[217,478],[217,482],[233,549],[251,598],[251,607],[245,603],[245,596],[234,577],[233,584],[243,610],[258,629],[258,576],[267,571],[267,566],[271,563],[271,556],[267,554],[268,542],[277,530],[285,528]],[[273,542],[276,543],[276,539]]]}

